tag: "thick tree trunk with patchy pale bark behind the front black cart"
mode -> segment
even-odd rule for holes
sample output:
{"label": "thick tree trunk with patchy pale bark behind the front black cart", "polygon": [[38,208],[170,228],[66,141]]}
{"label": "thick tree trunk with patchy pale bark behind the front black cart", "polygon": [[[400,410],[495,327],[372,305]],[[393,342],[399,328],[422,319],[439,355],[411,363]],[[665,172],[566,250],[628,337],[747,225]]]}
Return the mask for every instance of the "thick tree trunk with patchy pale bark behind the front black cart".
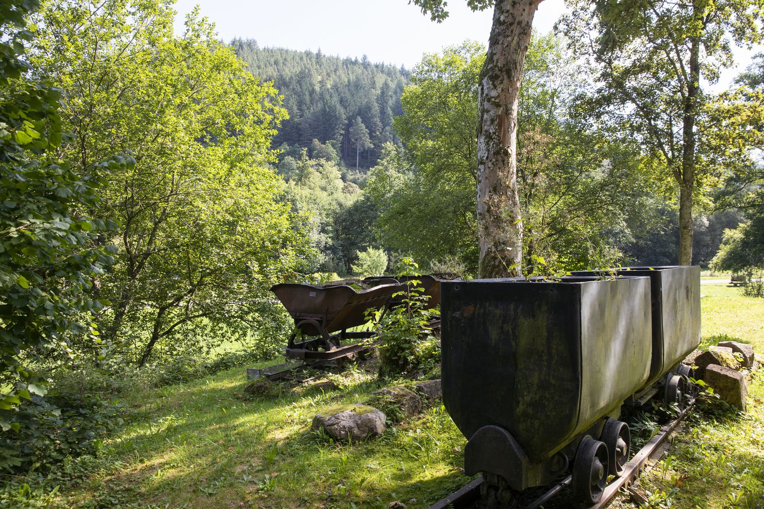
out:
{"label": "thick tree trunk with patchy pale bark behind the front black cart", "polygon": [[542,0],[497,0],[478,85],[480,277],[522,275],[523,223],[517,195],[517,98],[531,25]]}

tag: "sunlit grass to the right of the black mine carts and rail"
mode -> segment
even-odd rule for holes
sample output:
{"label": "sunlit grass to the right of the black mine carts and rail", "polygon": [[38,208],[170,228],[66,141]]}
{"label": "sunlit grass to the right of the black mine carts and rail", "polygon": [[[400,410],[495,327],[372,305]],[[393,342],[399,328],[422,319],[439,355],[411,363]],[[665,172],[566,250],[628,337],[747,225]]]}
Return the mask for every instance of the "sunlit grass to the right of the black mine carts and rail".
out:
{"label": "sunlit grass to the right of the black mine carts and rail", "polygon": [[[764,353],[764,299],[746,298],[740,288],[701,289],[703,343],[727,335]],[[649,507],[764,507],[764,377],[748,388],[748,413],[712,418],[694,415],[672,438],[672,448],[640,480]],[[612,507],[636,507],[622,498]]]}

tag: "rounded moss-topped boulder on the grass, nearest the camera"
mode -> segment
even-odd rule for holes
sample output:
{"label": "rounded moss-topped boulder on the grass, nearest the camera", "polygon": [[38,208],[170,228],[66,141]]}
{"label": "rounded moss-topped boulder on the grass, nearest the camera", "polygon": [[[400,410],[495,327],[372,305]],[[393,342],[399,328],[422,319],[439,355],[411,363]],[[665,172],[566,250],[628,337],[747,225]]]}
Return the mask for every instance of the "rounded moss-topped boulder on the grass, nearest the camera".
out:
{"label": "rounded moss-topped boulder on the grass, nearest the camera", "polygon": [[323,428],[338,441],[362,442],[378,437],[385,430],[385,415],[365,404],[341,404],[316,414],[311,427]]}

